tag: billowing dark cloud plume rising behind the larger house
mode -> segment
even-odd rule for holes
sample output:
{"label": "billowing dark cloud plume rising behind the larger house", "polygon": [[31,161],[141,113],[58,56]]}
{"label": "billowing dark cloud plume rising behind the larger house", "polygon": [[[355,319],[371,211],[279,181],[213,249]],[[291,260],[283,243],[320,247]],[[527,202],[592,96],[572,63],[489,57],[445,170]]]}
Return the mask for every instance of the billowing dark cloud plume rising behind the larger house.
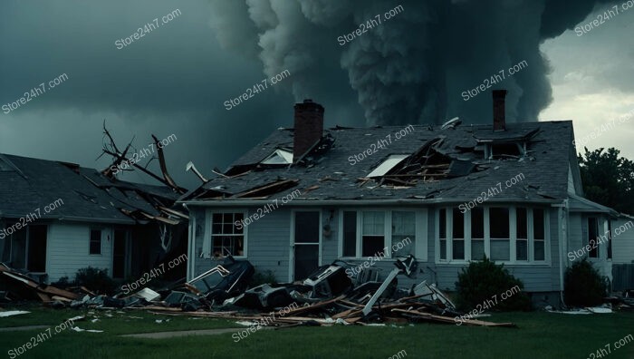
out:
{"label": "billowing dark cloud plume rising behind the larger house", "polygon": [[[488,121],[488,90],[465,102],[461,93],[505,71],[497,88],[508,89],[510,121],[535,121],[552,100],[540,52],[544,39],[561,34],[588,15],[595,1],[419,0],[364,1],[245,0],[213,2],[223,14],[213,22],[227,48],[258,53],[264,71],[294,73],[293,94],[323,92],[336,78],[316,66],[338,60],[358,92],[368,123],[441,122],[460,115],[467,122]],[[600,1],[600,3],[605,3]],[[337,44],[359,24],[399,5],[403,11],[376,28]],[[231,18],[229,20],[228,18]],[[250,20],[250,21],[248,21]],[[245,31],[235,33],[235,24]],[[249,37],[250,34],[250,37]],[[235,41],[244,39],[249,44]],[[257,45],[255,45],[255,43]],[[239,45],[239,46],[238,46]],[[508,69],[528,63],[511,76]],[[333,70],[334,71],[334,70]],[[339,71],[339,69],[336,69]]]}

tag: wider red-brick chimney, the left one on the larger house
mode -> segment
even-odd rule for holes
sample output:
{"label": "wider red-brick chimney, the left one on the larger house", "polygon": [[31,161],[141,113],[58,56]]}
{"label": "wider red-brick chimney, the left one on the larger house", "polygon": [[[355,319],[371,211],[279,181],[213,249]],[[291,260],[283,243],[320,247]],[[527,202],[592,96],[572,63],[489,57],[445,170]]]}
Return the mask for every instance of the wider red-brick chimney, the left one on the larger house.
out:
{"label": "wider red-brick chimney, the left one on the larger house", "polygon": [[323,106],[306,99],[295,103],[295,133],[293,140],[293,163],[301,160],[312,146],[322,140]]}

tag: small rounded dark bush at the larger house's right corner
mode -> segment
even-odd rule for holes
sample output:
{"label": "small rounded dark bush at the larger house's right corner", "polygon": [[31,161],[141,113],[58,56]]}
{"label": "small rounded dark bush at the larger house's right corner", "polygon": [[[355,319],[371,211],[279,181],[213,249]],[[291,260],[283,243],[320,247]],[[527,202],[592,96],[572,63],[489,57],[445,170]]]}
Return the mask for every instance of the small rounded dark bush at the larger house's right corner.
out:
{"label": "small rounded dark bush at the larger house's right corner", "polygon": [[568,306],[598,306],[607,286],[587,258],[576,261],[563,277],[563,299]]}

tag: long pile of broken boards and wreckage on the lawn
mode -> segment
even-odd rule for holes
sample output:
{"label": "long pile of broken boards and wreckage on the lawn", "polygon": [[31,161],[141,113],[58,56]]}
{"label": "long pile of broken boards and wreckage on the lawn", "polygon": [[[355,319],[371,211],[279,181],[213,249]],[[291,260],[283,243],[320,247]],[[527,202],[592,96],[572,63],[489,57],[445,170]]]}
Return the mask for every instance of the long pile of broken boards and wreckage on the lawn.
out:
{"label": "long pile of broken boards and wreckage on the lawn", "polygon": [[[395,268],[382,281],[370,280],[353,284],[346,274],[351,266],[336,261],[314,271],[303,281],[286,284],[264,284],[247,288],[255,273],[246,260],[227,257],[225,263],[195,277],[189,282],[166,290],[142,288],[130,296],[94,296],[73,293],[45,286],[33,279],[0,266],[1,283],[9,278],[12,296],[39,298],[44,303],[59,302],[71,307],[87,306],[111,309],[144,309],[162,315],[191,315],[233,319],[263,320],[280,308],[283,315],[267,320],[267,325],[368,325],[370,323],[433,322],[456,324],[456,310],[451,300],[426,281],[409,289],[398,288],[399,276],[413,277],[418,269],[416,258],[409,255],[396,260]],[[373,279],[373,280],[372,280]],[[82,296],[83,295],[83,296]],[[161,300],[162,299],[162,300]],[[273,312],[272,312],[273,311]],[[268,317],[267,317],[268,318]],[[512,323],[466,320],[465,325],[514,327]]]}

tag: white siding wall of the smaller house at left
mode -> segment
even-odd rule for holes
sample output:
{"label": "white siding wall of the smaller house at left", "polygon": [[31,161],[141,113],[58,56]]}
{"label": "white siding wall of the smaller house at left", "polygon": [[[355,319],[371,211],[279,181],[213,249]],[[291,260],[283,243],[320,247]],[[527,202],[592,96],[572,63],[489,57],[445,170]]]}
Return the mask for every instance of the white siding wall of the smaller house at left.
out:
{"label": "white siding wall of the smaller house at left", "polygon": [[50,282],[60,277],[73,279],[78,269],[89,266],[108,269],[108,274],[112,274],[111,229],[101,227],[101,255],[89,254],[90,230],[89,224],[49,225],[46,273]]}

